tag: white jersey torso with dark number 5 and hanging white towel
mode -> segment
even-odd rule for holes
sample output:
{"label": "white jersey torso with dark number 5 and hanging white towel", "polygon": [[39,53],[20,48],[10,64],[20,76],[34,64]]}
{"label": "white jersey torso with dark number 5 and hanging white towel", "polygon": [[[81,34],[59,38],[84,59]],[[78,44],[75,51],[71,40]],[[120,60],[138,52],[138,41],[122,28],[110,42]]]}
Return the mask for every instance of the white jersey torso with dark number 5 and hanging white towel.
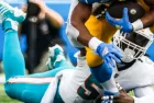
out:
{"label": "white jersey torso with dark number 5 and hanging white towel", "polygon": [[78,59],[76,68],[62,70],[56,77],[58,77],[59,84],[57,84],[57,79],[51,82],[41,103],[53,103],[53,101],[59,103],[59,100],[54,99],[56,91],[64,103],[101,101],[102,87],[91,76],[86,57]]}

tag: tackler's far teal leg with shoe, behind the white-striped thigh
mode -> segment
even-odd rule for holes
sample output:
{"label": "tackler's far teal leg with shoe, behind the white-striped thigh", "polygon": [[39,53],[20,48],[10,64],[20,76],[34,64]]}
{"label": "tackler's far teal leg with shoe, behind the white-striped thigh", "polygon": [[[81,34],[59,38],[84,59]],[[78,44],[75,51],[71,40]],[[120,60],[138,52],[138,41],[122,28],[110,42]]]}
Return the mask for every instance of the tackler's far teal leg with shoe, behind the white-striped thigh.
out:
{"label": "tackler's far teal leg with shoe, behind the white-striped thigh", "polygon": [[30,75],[30,77],[55,77],[61,70],[75,68],[66,60],[64,50],[59,45],[50,47],[50,60],[47,66],[52,70],[42,73]]}

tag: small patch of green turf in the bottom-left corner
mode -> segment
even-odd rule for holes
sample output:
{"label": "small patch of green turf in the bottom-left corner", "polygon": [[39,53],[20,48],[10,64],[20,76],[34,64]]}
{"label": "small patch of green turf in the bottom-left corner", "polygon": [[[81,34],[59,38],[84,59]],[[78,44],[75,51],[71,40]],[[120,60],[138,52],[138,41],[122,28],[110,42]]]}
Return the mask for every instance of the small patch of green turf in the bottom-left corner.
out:
{"label": "small patch of green turf in the bottom-left corner", "polygon": [[16,100],[10,99],[3,91],[3,85],[0,84],[0,103],[22,103]]}

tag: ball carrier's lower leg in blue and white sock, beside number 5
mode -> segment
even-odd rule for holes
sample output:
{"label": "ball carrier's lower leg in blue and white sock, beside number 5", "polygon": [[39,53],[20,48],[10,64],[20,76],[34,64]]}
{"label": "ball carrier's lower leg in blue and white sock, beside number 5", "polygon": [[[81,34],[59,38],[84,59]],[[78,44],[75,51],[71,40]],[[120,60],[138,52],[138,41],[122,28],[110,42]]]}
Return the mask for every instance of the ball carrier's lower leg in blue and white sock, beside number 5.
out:
{"label": "ball carrier's lower leg in blue and white sock, beside number 5", "polygon": [[96,80],[101,83],[108,95],[119,93],[113,78],[113,70],[111,68],[108,68],[105,62],[97,67],[91,67],[90,70]]}

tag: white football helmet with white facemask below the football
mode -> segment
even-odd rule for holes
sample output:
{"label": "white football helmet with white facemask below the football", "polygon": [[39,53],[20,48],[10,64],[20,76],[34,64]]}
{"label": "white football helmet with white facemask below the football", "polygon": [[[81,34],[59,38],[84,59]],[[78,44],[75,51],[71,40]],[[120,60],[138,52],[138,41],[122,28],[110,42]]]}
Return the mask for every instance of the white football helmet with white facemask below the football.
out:
{"label": "white football helmet with white facemask below the football", "polygon": [[113,36],[113,44],[118,46],[124,62],[130,62],[133,59],[139,59],[145,55],[147,48],[153,43],[153,33],[150,28],[143,28],[133,33],[127,34],[120,30]]}

